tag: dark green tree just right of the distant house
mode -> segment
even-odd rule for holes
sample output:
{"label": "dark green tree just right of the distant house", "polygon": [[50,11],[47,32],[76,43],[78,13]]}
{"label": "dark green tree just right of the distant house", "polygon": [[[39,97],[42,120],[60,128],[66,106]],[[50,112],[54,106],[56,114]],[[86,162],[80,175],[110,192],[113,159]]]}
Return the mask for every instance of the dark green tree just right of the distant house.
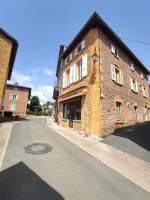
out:
{"label": "dark green tree just right of the distant house", "polygon": [[42,110],[38,96],[33,96],[31,98],[29,110],[33,112],[40,112]]}

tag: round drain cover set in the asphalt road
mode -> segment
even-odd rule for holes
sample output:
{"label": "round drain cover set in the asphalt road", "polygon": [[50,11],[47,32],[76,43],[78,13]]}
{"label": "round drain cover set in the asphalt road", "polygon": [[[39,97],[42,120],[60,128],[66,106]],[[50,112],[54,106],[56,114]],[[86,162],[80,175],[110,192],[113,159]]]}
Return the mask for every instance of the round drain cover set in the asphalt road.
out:
{"label": "round drain cover set in the asphalt road", "polygon": [[26,153],[40,155],[40,154],[46,154],[48,152],[51,152],[53,148],[45,143],[33,143],[30,145],[27,145],[25,148]]}

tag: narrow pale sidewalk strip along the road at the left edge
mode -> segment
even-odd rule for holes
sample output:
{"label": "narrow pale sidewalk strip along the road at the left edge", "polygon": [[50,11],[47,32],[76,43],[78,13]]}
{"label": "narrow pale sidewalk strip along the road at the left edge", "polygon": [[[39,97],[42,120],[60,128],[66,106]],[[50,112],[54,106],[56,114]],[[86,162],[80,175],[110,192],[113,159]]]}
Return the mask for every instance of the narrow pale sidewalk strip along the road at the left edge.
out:
{"label": "narrow pale sidewalk strip along the road at the left edge", "polygon": [[8,145],[9,137],[11,134],[13,123],[0,124],[0,170],[5,156],[6,148]]}

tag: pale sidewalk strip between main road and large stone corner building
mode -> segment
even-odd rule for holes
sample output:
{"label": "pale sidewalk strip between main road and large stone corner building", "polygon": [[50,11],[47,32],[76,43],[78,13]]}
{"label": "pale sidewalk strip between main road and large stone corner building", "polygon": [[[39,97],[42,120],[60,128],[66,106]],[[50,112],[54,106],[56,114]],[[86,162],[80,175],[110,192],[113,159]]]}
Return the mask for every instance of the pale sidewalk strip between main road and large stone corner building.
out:
{"label": "pale sidewalk strip between main road and large stone corner building", "polygon": [[56,125],[47,118],[48,126],[108,167],[150,192],[150,164],[103,142],[83,137],[77,132]]}

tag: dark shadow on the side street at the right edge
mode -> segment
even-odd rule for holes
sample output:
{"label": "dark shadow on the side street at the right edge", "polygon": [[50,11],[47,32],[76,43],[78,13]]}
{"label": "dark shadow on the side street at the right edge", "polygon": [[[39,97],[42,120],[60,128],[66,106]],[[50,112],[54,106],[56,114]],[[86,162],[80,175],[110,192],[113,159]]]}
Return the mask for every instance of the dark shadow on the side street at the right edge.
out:
{"label": "dark shadow on the side street at the right edge", "polygon": [[150,151],[150,121],[116,129],[113,135],[128,138],[137,145]]}

